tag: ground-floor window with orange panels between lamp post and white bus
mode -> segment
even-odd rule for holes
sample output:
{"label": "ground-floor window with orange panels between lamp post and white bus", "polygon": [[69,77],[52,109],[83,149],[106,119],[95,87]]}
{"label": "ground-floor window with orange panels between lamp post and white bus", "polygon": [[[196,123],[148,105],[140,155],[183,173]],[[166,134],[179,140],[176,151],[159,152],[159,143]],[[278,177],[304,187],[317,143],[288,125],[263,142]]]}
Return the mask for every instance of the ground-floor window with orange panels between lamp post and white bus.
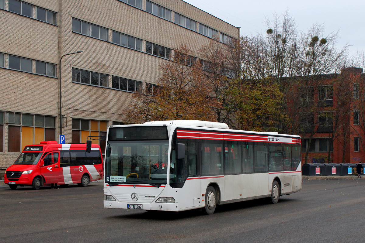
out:
{"label": "ground-floor window with orange panels between lamp post and white bus", "polygon": [[[95,121],[72,118],[72,143],[86,143],[88,136],[106,136],[106,121]],[[105,151],[105,140],[91,140],[93,144],[99,144],[101,152]]]}

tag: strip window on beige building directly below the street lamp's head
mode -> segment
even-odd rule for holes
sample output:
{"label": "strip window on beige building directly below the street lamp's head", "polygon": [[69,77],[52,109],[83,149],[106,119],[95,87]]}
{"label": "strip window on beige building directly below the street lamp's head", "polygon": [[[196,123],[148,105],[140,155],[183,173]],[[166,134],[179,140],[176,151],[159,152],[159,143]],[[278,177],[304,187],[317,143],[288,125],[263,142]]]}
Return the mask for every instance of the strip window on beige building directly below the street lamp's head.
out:
{"label": "strip window on beige building directly below the street lamp's head", "polygon": [[72,68],[72,81],[108,87],[108,75]]}

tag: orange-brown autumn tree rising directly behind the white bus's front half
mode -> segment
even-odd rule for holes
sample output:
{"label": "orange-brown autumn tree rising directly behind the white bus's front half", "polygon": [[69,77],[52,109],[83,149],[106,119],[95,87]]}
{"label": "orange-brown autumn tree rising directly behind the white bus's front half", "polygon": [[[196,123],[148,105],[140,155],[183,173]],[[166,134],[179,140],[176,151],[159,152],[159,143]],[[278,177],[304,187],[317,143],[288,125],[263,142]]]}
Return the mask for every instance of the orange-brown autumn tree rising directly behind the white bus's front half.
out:
{"label": "orange-brown autumn tree rising directly behind the white bus's front half", "polygon": [[162,75],[158,86],[146,87],[144,92],[135,93],[127,122],[140,124],[160,120],[204,120],[216,121],[212,107],[220,107],[201,65],[193,58],[192,51],[181,45],[174,51],[172,62],[161,63]]}

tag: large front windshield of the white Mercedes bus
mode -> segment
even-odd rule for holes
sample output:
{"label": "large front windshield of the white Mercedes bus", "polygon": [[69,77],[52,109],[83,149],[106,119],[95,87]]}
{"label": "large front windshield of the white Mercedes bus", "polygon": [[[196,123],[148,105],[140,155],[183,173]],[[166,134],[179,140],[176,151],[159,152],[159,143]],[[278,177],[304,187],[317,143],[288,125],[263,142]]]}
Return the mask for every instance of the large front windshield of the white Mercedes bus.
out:
{"label": "large front windshield of the white Mercedes bus", "polygon": [[167,184],[168,140],[108,141],[105,183]]}

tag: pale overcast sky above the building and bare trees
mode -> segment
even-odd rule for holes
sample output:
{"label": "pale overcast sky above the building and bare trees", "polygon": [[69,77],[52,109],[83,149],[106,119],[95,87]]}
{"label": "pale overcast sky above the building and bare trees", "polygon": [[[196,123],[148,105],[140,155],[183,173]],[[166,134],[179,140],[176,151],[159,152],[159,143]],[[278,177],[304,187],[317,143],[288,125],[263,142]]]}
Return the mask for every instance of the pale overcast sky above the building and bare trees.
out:
{"label": "pale overcast sky above the building and bare trees", "polygon": [[313,24],[323,24],[326,34],[339,31],[337,45],[343,47],[350,44],[350,55],[365,51],[363,0],[184,1],[235,27],[241,27],[241,35],[266,31],[265,16],[273,19],[274,12],[280,15],[288,10],[289,16],[295,19],[298,30],[307,32]]}

